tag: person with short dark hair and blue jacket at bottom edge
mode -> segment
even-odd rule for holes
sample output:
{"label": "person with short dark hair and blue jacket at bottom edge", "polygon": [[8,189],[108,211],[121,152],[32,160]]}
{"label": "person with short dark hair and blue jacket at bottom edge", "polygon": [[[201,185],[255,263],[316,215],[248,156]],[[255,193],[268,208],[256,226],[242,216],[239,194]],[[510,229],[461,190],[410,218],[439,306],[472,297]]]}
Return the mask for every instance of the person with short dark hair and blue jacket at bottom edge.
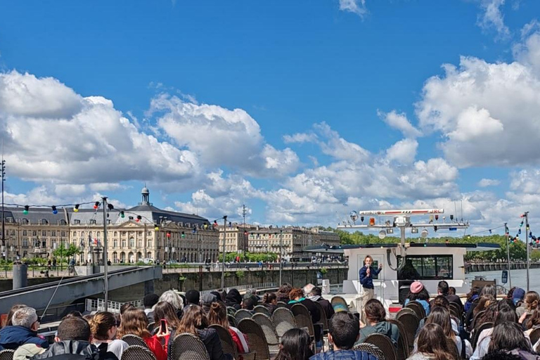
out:
{"label": "person with short dark hair and blue jacket at bottom edge", "polygon": [[309,360],[377,360],[368,352],[352,350],[359,339],[359,321],[346,311],[341,311],[328,321],[328,344],[332,348],[328,352],[319,352]]}

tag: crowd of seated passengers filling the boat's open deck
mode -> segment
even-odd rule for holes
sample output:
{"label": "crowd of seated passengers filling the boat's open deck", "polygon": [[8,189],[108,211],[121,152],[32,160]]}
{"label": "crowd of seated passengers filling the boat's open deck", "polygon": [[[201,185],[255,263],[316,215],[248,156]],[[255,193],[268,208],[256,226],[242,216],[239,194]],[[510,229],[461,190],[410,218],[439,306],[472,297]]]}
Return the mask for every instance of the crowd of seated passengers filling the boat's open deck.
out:
{"label": "crowd of seated passengers filling the boat's open deck", "polygon": [[[252,352],[250,338],[236,328],[231,312],[243,309],[250,316],[262,310],[271,315],[280,307],[295,311],[293,307],[302,304],[309,311],[314,333],[310,336],[306,328],[290,328],[282,334],[271,358],[375,360],[378,359],[375,353],[368,352],[364,342],[370,342],[373,334],[379,334],[376,336],[387,338],[387,346],[392,347],[395,354],[401,354],[397,359],[540,360],[536,353],[540,350],[538,293],[513,288],[506,298],[498,300],[496,288],[485,285],[473,288],[464,300],[463,304],[446,281],[439,283],[437,295],[432,296],[422,283],[415,281],[404,301],[404,307],[410,309],[402,309],[396,319],[390,319],[379,300],[368,300],[364,313],[354,314],[344,309],[343,304],[334,308],[323,297],[321,288],[311,284],[293,288],[285,283],[276,293],[266,293],[262,298],[251,293],[241,295],[236,289],[203,295],[197,290],[188,290],[185,295],[169,290],[160,296],[146,295],[144,309],[132,304],[122,305],[118,316],[105,311],[82,316],[74,311],[60,322],[52,343],[37,333],[36,310],[18,304],[9,311],[0,329],[0,350],[13,350],[14,360],[121,360],[130,346],[128,342],[135,338],[156,360],[174,360],[175,339],[179,334],[188,333],[200,339],[210,360],[231,360],[233,354],[224,351],[214,328],[217,326],[218,330],[226,330],[225,333],[231,335],[238,352],[237,360],[252,359],[248,356]],[[413,311],[415,307],[421,316],[417,310]],[[409,315],[401,317],[400,314]],[[410,316],[416,320],[412,321]],[[323,319],[328,323],[326,340]],[[366,319],[366,323],[360,319]],[[416,325],[411,329],[413,322]]]}

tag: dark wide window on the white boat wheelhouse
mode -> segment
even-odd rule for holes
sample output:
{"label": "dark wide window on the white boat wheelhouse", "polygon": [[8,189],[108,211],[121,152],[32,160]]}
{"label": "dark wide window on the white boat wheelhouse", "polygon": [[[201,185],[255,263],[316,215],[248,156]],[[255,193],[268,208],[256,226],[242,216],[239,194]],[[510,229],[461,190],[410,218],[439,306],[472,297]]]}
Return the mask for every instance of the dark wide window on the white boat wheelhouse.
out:
{"label": "dark wide window on the white boat wheelhouse", "polygon": [[[400,257],[398,259],[401,261]],[[406,263],[398,271],[398,280],[431,280],[454,278],[452,255],[407,255]]]}

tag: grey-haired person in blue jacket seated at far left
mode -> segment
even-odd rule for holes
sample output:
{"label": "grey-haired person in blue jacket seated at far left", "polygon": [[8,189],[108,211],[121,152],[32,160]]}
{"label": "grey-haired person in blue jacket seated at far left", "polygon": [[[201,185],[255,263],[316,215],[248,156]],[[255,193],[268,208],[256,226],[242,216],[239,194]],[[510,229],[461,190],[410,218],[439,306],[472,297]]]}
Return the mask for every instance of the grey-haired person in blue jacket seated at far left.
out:
{"label": "grey-haired person in blue jacket seated at far left", "polygon": [[37,320],[36,309],[33,307],[21,307],[16,310],[11,317],[13,325],[6,326],[0,330],[0,350],[15,350],[21,345],[28,344],[30,351],[46,349],[49,342],[37,335],[39,321]]}

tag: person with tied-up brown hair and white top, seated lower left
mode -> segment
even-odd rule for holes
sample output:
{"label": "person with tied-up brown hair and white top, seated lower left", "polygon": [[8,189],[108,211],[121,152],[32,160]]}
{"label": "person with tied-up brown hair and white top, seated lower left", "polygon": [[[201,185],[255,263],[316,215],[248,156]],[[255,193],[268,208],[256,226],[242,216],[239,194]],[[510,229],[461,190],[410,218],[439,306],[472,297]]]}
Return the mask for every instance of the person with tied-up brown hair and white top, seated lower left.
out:
{"label": "person with tied-up brown hair and white top, seated lower left", "polygon": [[124,340],[116,338],[117,326],[116,318],[110,312],[101,311],[92,317],[90,330],[92,333],[92,344],[96,347],[105,344],[107,351],[112,352],[118,359],[122,357],[122,352],[129,346]]}

